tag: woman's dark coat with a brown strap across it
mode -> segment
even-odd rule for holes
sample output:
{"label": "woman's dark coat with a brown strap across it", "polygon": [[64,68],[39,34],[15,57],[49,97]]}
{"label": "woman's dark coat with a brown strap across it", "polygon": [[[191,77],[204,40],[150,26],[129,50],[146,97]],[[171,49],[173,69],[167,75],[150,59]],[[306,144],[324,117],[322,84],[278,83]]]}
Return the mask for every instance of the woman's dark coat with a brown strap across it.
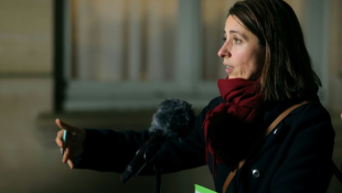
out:
{"label": "woman's dark coat with a brown strap across it", "polygon": [[[195,128],[186,140],[174,139],[163,144],[160,156],[163,172],[196,168],[206,164],[202,122],[206,112],[224,103],[214,98],[196,117]],[[270,106],[264,116],[267,128],[293,101]],[[85,151],[75,159],[76,168],[122,173],[137,149],[148,140],[148,131],[115,132],[86,130]],[[248,133],[246,133],[248,135]],[[228,138],[227,138],[228,139]],[[264,140],[252,147],[250,159],[232,180],[226,192],[325,192],[332,178],[334,131],[328,111],[316,103],[303,105],[287,116]],[[209,156],[212,171],[212,158]],[[222,192],[229,169],[217,164],[213,176],[215,189]],[[141,174],[153,174],[146,167]]]}

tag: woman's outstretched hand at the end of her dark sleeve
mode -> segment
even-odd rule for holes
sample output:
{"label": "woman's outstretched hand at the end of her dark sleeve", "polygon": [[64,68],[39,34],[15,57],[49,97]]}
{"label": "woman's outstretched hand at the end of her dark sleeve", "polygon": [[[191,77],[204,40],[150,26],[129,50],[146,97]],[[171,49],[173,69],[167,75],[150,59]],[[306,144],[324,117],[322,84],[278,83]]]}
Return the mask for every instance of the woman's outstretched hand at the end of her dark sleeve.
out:
{"label": "woman's outstretched hand at the end of her dark sleeve", "polygon": [[[61,148],[61,152],[64,149],[62,158],[63,163],[67,163],[71,169],[74,169],[73,159],[83,152],[83,143],[86,137],[84,129],[70,126],[60,119],[55,120],[56,125],[61,128],[57,132],[56,143]],[[63,142],[63,132],[67,131],[66,142]]]}

